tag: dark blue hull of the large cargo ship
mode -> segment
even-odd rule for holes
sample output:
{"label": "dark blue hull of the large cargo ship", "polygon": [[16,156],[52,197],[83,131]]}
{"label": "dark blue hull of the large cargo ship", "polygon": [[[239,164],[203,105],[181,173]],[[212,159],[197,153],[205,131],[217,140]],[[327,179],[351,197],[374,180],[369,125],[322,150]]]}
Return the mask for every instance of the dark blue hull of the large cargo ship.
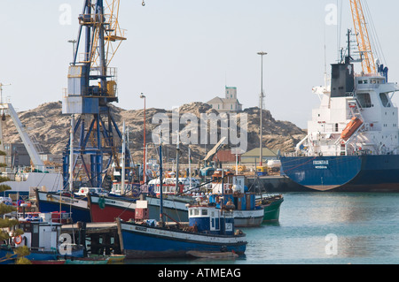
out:
{"label": "dark blue hull of the large cargo ship", "polygon": [[281,173],[319,191],[399,192],[399,156],[284,156]]}

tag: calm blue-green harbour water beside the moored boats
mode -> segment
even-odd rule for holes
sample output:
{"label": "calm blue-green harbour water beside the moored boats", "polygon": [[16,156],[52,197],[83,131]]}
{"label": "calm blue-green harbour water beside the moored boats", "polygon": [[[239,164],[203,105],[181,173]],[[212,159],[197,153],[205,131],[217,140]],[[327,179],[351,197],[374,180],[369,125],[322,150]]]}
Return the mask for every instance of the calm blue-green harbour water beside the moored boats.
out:
{"label": "calm blue-green harbour water beside the moored boats", "polygon": [[289,193],[284,197],[278,224],[241,228],[248,242],[243,258],[125,263],[399,263],[399,194]]}

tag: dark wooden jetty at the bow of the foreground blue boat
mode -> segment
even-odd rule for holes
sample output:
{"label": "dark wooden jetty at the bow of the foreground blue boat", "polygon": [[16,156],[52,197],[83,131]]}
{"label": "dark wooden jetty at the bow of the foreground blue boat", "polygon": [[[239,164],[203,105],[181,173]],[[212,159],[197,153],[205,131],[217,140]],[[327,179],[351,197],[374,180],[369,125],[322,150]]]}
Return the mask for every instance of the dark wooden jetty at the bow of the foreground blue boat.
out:
{"label": "dark wooden jetty at the bow of the foreground blue boat", "polygon": [[77,244],[84,244],[87,253],[95,255],[121,255],[121,244],[116,222],[78,222],[74,225],[63,225],[61,232],[70,234]]}

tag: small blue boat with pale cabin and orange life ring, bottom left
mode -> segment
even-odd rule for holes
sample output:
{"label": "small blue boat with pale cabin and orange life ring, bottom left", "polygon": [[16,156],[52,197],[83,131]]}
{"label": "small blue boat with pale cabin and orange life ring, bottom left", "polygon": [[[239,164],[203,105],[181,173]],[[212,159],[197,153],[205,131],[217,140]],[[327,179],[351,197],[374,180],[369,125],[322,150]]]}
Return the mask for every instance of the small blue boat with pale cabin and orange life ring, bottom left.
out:
{"label": "small blue boat with pale cabin and orange life ring, bottom left", "polygon": [[37,263],[56,262],[59,255],[82,257],[82,246],[60,242],[62,224],[55,222],[54,218],[51,213],[27,213],[26,217],[20,217],[16,228],[24,233],[13,236],[6,245],[0,247],[0,258],[11,255],[11,259],[3,263],[13,263],[17,258],[14,250],[22,246],[29,249],[30,255],[26,258]]}

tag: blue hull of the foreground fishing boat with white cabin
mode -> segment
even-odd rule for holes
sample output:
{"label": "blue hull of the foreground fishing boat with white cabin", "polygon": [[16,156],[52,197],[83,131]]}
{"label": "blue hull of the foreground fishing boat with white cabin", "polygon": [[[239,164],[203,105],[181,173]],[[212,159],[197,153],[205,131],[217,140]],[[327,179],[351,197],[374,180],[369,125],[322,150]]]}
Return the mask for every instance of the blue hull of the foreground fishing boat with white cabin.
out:
{"label": "blue hull of the foreground fishing boat with white cabin", "polygon": [[243,255],[245,235],[223,236],[184,232],[160,227],[137,225],[117,220],[121,249],[126,258],[189,256],[189,251],[220,252]]}

